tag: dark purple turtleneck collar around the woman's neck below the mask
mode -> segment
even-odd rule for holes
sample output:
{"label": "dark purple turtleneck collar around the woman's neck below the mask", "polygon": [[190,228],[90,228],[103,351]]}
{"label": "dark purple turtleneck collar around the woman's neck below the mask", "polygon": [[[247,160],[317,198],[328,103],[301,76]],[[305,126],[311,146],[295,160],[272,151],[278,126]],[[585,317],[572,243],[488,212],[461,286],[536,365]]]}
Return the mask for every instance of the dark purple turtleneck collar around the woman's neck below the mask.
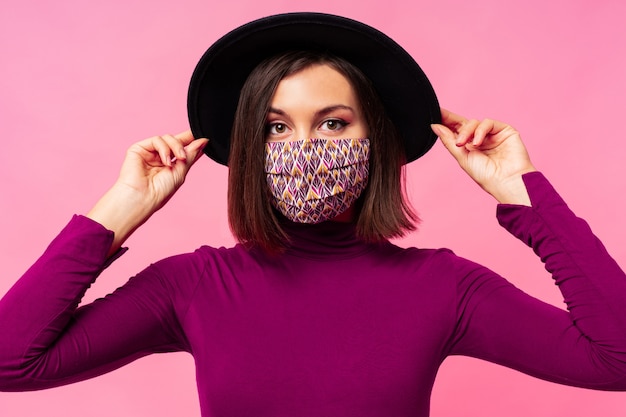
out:
{"label": "dark purple turtleneck collar around the woman's neck below the mask", "polygon": [[348,259],[376,249],[356,236],[351,222],[325,221],[318,224],[285,220],[282,226],[291,241],[285,254],[309,259]]}

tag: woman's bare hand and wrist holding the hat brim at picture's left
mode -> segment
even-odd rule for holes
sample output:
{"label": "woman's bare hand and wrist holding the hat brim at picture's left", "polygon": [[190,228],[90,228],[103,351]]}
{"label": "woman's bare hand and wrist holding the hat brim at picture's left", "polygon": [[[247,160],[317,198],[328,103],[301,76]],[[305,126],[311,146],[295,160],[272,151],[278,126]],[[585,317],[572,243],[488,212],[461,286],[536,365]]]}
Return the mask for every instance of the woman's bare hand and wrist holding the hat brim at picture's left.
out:
{"label": "woman's bare hand and wrist holding the hat brim at picture's left", "polygon": [[128,149],[118,180],[87,214],[115,233],[110,253],[174,195],[207,142],[186,131],[153,136]]}

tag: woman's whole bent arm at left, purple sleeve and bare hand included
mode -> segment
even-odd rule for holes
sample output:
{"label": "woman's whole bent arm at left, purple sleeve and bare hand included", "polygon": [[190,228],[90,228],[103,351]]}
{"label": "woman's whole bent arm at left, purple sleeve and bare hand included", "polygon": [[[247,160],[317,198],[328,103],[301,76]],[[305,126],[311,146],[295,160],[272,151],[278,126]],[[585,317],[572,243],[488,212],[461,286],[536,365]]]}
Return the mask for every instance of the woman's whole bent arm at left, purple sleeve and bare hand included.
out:
{"label": "woman's whole bent arm at left, purple sleeve and bare hand included", "polygon": [[180,187],[205,144],[185,132],[133,145],[91,219],[75,216],[0,300],[0,389],[67,384],[183,348],[167,282],[155,267],[77,306],[111,255]]}

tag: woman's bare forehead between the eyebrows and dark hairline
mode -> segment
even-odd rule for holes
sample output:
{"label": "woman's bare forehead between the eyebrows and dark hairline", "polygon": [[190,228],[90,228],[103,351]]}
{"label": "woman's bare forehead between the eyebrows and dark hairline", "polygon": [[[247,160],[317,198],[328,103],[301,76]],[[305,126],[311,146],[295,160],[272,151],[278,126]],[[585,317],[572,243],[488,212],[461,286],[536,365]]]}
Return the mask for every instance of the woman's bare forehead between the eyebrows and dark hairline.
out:
{"label": "woman's bare forehead between the eyebrows and dark hairline", "polygon": [[327,64],[315,64],[283,78],[272,97],[272,106],[296,105],[303,99],[320,104],[357,104],[348,78]]}

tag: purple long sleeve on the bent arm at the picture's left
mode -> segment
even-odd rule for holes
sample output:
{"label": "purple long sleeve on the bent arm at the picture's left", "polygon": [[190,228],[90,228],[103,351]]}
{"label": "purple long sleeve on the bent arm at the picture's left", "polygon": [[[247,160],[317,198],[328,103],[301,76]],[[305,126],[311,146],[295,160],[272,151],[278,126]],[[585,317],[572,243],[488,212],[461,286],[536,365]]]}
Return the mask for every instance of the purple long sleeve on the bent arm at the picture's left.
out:
{"label": "purple long sleeve on the bent arm at the picture's left", "polygon": [[49,388],[152,352],[180,350],[158,274],[77,308],[107,266],[112,233],[75,216],[0,300],[0,389]]}

